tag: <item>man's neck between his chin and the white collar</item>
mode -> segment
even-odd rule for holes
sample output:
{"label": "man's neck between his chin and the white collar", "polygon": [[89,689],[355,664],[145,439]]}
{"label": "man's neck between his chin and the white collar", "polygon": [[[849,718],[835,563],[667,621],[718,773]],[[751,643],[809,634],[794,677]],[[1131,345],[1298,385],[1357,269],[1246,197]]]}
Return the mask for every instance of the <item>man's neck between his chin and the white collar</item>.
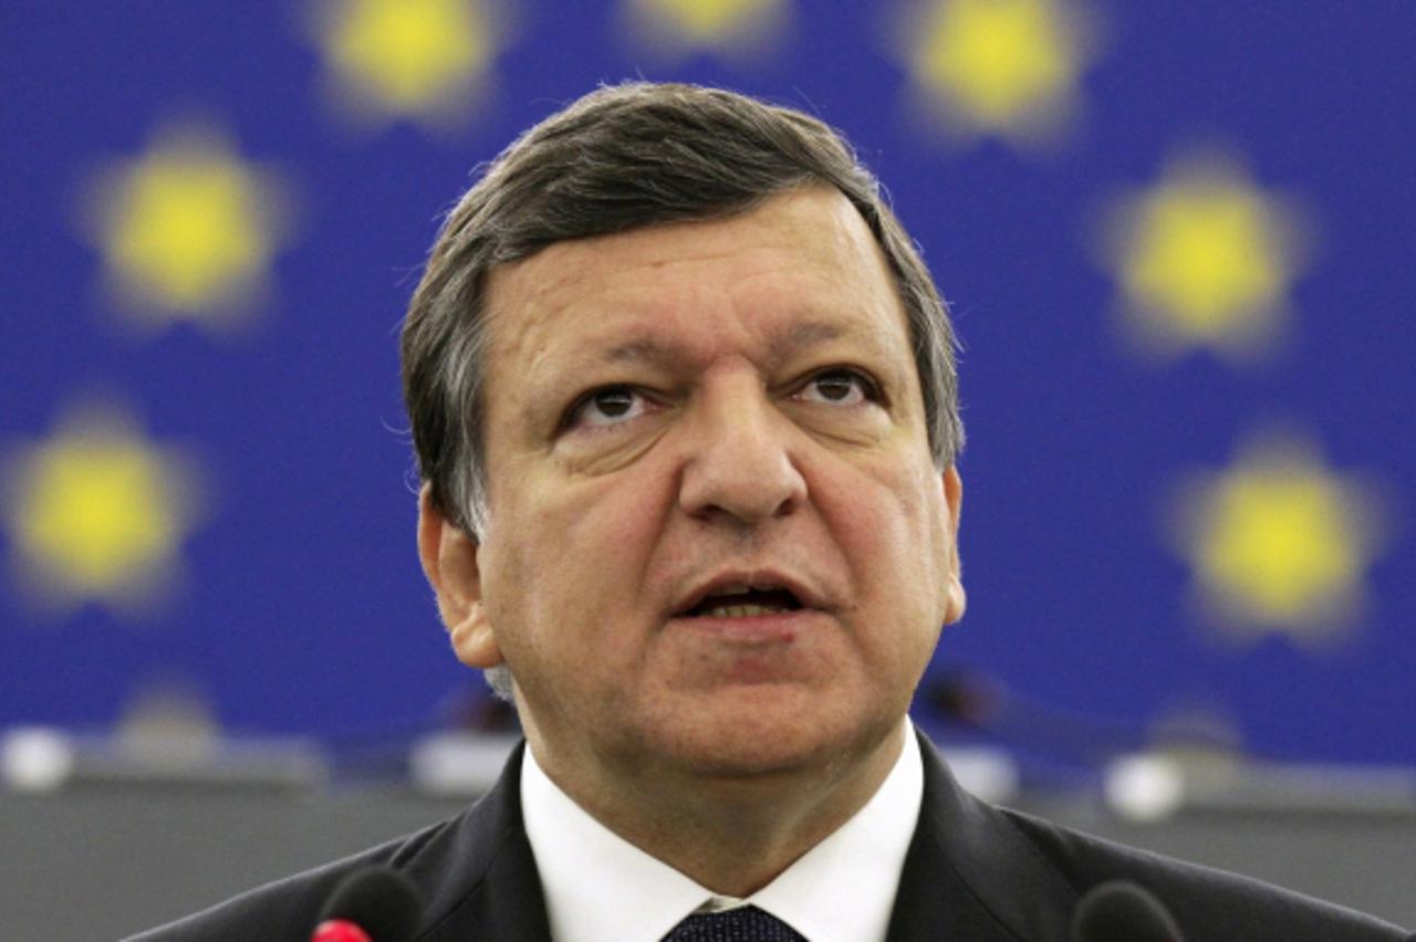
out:
{"label": "man's neck between his chin and the white collar", "polygon": [[850,820],[905,745],[905,724],[862,754],[756,775],[641,769],[605,782],[564,774],[528,728],[537,762],[589,815],[708,890],[748,897]]}

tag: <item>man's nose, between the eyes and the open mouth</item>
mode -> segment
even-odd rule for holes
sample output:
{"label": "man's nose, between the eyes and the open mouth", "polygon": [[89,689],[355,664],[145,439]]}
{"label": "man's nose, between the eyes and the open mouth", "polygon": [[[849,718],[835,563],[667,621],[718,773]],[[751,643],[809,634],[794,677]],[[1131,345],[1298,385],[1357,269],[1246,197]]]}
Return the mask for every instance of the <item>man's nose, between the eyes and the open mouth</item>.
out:
{"label": "man's nose, between the eyes and the open mouth", "polygon": [[790,420],[755,378],[704,392],[687,424],[680,506],[700,519],[756,525],[787,516],[807,495]]}

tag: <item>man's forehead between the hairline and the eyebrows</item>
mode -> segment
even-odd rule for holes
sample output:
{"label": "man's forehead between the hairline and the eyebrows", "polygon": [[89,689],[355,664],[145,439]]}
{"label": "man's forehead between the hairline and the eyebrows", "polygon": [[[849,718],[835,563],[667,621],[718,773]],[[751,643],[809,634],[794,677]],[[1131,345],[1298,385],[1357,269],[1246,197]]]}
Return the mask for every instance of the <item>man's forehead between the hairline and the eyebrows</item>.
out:
{"label": "man's forehead between the hairline and the eyebrows", "polygon": [[592,352],[695,359],[739,341],[782,348],[834,338],[909,349],[875,238],[824,187],[726,219],[555,243],[493,272],[487,317],[494,396],[498,372],[530,378]]}

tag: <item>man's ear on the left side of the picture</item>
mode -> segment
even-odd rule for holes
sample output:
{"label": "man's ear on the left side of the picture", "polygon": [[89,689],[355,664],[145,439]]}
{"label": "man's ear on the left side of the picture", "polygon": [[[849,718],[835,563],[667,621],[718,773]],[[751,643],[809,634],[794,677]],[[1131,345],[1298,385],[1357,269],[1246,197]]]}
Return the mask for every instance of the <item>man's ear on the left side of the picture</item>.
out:
{"label": "man's ear on the left side of the picture", "polygon": [[418,559],[438,594],[452,649],[469,668],[496,668],[501,649],[481,601],[480,546],[433,506],[432,488],[418,494]]}

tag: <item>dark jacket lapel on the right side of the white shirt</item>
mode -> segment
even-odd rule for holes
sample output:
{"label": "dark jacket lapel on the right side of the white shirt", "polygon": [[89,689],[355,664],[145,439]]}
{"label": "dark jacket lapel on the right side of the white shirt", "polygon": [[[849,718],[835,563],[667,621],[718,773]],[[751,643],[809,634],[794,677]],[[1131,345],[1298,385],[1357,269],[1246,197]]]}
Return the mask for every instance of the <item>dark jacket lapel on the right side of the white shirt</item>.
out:
{"label": "dark jacket lapel on the right side of the white shirt", "polygon": [[925,798],[889,942],[1061,942],[1076,894],[991,805],[963,791],[919,735]]}

